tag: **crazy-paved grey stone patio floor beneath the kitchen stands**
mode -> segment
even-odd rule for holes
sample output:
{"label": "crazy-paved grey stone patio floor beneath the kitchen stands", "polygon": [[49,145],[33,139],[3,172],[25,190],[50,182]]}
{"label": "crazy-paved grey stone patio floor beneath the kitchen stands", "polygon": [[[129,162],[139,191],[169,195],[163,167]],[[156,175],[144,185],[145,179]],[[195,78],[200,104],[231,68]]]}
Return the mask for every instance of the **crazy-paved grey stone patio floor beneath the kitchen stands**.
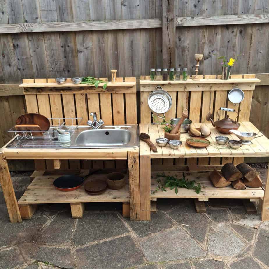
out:
{"label": "crazy-paved grey stone patio floor beneath the kitchen stands", "polygon": [[[30,174],[12,173],[17,198]],[[0,192],[0,268],[269,268],[268,222],[240,200],[206,206],[198,214],[193,200],[160,199],[151,222],[131,222],[119,203],[88,203],[79,220],[54,204],[11,224]]]}

